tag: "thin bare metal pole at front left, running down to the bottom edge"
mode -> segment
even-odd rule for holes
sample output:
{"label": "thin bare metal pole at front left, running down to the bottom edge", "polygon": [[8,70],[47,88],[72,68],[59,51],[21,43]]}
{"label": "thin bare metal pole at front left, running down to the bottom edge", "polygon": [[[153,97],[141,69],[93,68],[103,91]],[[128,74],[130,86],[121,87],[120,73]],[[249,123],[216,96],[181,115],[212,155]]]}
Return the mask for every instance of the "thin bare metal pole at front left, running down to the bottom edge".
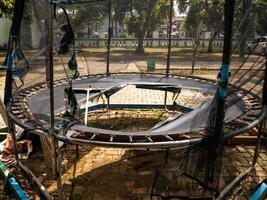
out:
{"label": "thin bare metal pole at front left, running down to the bottom edge", "polygon": [[52,167],[53,175],[57,182],[57,198],[63,199],[61,172],[59,164],[59,149],[58,141],[55,133],[55,113],[54,113],[54,55],[53,55],[53,27],[54,27],[54,10],[55,4],[50,4],[50,16],[49,16],[49,96],[50,96],[50,135],[52,136]]}

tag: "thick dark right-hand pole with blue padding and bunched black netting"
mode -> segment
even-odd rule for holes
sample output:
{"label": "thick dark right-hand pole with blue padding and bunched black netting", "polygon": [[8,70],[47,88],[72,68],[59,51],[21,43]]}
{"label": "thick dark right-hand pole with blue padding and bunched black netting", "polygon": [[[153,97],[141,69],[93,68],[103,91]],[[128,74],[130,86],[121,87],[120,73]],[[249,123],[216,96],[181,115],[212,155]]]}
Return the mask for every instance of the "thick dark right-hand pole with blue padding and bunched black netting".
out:
{"label": "thick dark right-hand pole with blue padding and bunched black netting", "polygon": [[[232,27],[234,18],[235,0],[225,0],[224,4],[224,47],[222,66],[218,74],[218,88],[211,105],[207,127],[208,132],[208,159],[210,160],[206,165],[206,181],[214,182],[214,173],[216,170],[216,163],[220,162],[219,156],[222,154],[222,145],[224,141],[224,117],[225,117],[225,100],[227,97],[227,85],[229,80],[229,65],[232,46]],[[218,164],[218,167],[221,163]]]}

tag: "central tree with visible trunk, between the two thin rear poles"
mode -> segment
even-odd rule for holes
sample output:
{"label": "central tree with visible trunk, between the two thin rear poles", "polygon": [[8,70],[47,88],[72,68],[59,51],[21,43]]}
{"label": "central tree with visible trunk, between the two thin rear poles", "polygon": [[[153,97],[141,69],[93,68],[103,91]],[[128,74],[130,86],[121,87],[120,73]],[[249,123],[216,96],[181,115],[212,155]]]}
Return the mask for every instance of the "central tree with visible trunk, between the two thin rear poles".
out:
{"label": "central tree with visible trunk, between the two thin rear poles", "polygon": [[166,21],[169,2],[170,0],[124,0],[115,5],[116,18],[123,20],[129,34],[138,38],[137,53],[144,53],[143,41],[148,33]]}

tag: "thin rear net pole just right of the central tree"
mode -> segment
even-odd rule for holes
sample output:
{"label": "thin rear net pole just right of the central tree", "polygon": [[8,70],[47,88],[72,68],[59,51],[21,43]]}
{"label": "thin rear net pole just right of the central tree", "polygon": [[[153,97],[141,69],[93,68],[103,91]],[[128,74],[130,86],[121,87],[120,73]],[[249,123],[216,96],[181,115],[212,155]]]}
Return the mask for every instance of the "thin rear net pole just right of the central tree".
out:
{"label": "thin rear net pole just right of the central tree", "polygon": [[[170,11],[169,11],[169,28],[168,28],[168,53],[167,53],[167,66],[166,66],[166,77],[169,77],[170,64],[171,64],[171,48],[172,48],[172,15],[173,15],[173,0],[170,0]],[[167,95],[164,95],[164,107],[167,110]]]}

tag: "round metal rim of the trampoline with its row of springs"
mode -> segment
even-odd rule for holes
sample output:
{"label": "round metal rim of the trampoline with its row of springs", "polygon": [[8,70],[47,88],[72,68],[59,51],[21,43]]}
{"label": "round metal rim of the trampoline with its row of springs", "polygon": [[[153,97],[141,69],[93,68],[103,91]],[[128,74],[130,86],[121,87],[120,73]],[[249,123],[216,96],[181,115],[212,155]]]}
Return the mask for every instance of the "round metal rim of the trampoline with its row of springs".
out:
{"label": "round metal rim of the trampoline with its row of springs", "polygon": [[[139,74],[139,73],[116,73],[116,74],[112,74],[112,76],[116,76],[116,75],[136,75],[136,76],[142,76],[143,74]],[[146,75],[153,75],[153,76],[159,76],[159,77],[164,77],[164,74],[146,74]],[[104,75],[105,76],[105,75]],[[97,74],[97,75],[90,75],[90,76],[81,76],[79,78],[79,80],[86,80],[92,77],[103,77],[103,74]],[[174,75],[173,77],[180,77],[180,76],[176,76]],[[199,82],[205,82],[205,83],[209,83],[209,84],[215,84],[216,82],[214,80],[210,80],[210,79],[205,79],[205,78],[199,78],[199,77],[193,77],[193,76],[188,76],[188,77],[182,77],[183,79],[193,79],[195,81],[199,81]],[[64,83],[67,83],[67,79],[59,79],[54,81],[54,85],[58,86],[58,85],[62,85]],[[232,85],[230,85],[230,87],[234,87]],[[48,135],[48,129],[38,125],[38,123],[36,121],[31,121],[33,118],[30,118],[29,116],[31,116],[31,110],[29,107],[25,106],[27,104],[27,101],[29,100],[29,98],[33,95],[38,93],[38,91],[41,90],[47,90],[47,82],[42,82],[42,83],[38,83],[32,86],[29,86],[23,90],[21,90],[20,92],[18,92],[17,94],[15,94],[13,96],[13,100],[12,102],[7,106],[7,110],[8,110],[8,115],[9,117],[20,127],[24,128],[26,131],[29,132],[33,132],[33,133],[37,133],[38,135]],[[237,89],[237,88],[235,88]],[[255,95],[252,92],[248,92],[246,89],[244,88],[238,88],[238,90],[248,93],[251,97],[253,97],[253,101],[257,101],[256,103],[256,107],[255,109],[259,110],[261,109],[260,107],[260,98]],[[24,106],[22,106],[22,104],[24,104]],[[258,118],[256,118],[252,123],[248,124],[247,126],[243,127],[240,130],[235,130],[235,131],[230,131],[228,133],[225,133],[225,138],[230,138],[233,135],[238,135],[241,134],[242,132],[245,132],[246,130],[256,126],[263,118],[263,115],[265,113],[265,109],[263,110],[262,115],[260,115]],[[28,123],[34,123],[35,126],[30,126]],[[72,126],[74,126],[76,123],[70,122],[68,124],[68,127],[65,128],[65,131],[67,131],[67,129],[70,129]],[[77,124],[79,124],[77,122]],[[94,132],[95,131],[95,132]],[[102,131],[102,133],[101,133]],[[103,135],[108,135],[109,136],[109,141],[103,141],[103,140],[95,140],[96,136],[99,134],[103,134]],[[70,144],[90,144],[90,145],[96,145],[96,146],[108,146],[108,147],[120,147],[120,148],[136,148],[136,149],[184,149],[184,148],[188,148],[191,147],[195,144],[199,144],[201,142],[205,142],[205,137],[202,138],[192,138],[192,139],[181,139],[179,137],[172,137],[174,133],[171,132],[167,132],[167,133],[162,133],[160,136],[164,139],[162,139],[162,141],[153,141],[153,138],[151,139],[151,137],[153,137],[153,133],[148,133],[148,132],[123,132],[123,131],[110,131],[110,130],[105,130],[103,132],[103,130],[101,129],[96,129],[93,128],[92,132],[91,132],[91,138],[90,139],[78,139],[78,138],[71,138],[68,136],[64,136],[62,134],[56,134],[56,138],[62,142],[66,142],[66,143],[70,143]],[[113,141],[113,137],[115,137],[116,135],[119,136],[125,136],[128,137],[128,142],[114,142]],[[138,136],[142,136],[143,139],[146,138],[144,141],[142,142],[137,142],[137,140],[134,140],[134,137],[138,137]],[[159,136],[159,135],[157,135]],[[140,141],[140,139],[139,139]]]}

